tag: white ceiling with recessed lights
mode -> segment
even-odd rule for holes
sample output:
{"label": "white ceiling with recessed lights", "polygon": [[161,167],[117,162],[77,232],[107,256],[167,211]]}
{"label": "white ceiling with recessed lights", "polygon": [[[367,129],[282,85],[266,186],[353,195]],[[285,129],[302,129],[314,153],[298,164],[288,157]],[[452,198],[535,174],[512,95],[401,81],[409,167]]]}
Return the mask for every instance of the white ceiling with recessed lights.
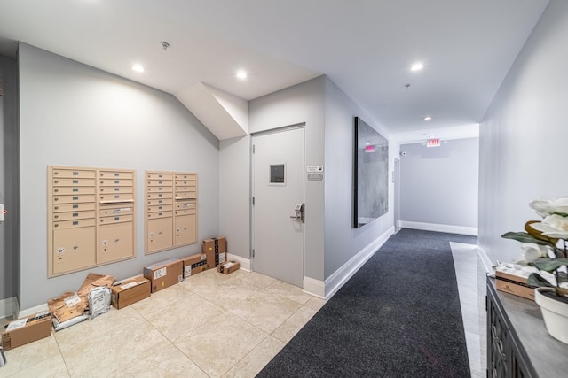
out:
{"label": "white ceiling with recessed lights", "polygon": [[326,74],[367,123],[407,140],[449,138],[476,129],[547,4],[0,0],[0,53],[15,56],[21,41],[173,95],[204,83],[244,100]]}

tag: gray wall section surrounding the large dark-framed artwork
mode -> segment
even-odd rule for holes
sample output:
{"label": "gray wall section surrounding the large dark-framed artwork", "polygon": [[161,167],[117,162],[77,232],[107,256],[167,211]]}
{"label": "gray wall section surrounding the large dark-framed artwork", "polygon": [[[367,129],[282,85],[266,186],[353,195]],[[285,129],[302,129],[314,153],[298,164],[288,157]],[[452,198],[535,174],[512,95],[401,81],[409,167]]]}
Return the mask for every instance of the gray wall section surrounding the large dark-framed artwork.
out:
{"label": "gray wall section surrounding the large dark-framed artwork", "polygon": [[[389,178],[389,212],[362,228],[353,228],[353,138],[358,116],[387,139],[385,130],[342,89],[326,80],[325,104],[325,277],[343,266],[393,226],[392,183]],[[389,154],[395,150],[390,140]],[[389,171],[392,171],[389,158]]]}

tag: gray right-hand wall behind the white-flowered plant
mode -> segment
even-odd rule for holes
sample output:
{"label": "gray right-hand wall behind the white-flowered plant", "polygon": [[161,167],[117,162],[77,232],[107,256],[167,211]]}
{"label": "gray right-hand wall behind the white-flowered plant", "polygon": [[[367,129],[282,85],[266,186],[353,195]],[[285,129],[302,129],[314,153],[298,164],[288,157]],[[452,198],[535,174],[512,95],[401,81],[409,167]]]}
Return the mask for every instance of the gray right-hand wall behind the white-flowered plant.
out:
{"label": "gray right-hand wall behind the white-flowered plant", "polygon": [[539,198],[568,195],[568,2],[552,0],[480,125],[479,238],[495,262],[519,243],[501,239],[540,217]]}

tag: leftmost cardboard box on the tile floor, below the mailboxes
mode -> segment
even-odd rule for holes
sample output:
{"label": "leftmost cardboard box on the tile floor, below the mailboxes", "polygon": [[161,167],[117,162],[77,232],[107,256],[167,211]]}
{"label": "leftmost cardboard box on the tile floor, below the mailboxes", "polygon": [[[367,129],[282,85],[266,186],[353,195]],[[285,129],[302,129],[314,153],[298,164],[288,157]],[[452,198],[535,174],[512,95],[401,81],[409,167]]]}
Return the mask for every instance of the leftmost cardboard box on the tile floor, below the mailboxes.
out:
{"label": "leftmost cardboard box on the tile floor, below the mailboxes", "polygon": [[51,335],[51,313],[13,320],[2,330],[2,347],[9,351]]}

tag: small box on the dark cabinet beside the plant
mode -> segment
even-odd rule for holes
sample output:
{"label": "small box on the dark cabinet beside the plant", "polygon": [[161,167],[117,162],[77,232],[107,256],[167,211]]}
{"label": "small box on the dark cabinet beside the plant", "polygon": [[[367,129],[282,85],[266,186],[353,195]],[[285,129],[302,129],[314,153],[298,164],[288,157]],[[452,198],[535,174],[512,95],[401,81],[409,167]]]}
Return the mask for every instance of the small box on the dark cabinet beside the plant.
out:
{"label": "small box on the dark cabinet beside the plant", "polygon": [[503,264],[495,268],[495,288],[517,297],[534,300],[535,286],[527,285],[529,275],[538,272],[532,266]]}

